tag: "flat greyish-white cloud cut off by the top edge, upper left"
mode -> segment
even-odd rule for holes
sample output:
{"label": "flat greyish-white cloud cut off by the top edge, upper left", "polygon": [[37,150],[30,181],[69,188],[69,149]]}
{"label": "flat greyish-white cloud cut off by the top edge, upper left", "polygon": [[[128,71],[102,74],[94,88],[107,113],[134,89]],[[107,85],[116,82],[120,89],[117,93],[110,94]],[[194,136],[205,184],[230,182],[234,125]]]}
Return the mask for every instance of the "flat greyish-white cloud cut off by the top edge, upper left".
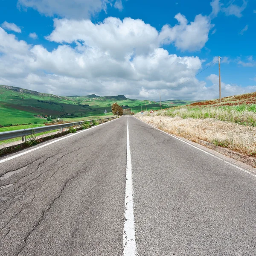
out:
{"label": "flat greyish-white cloud cut off by the top edge, upper left", "polygon": [[22,8],[33,8],[38,12],[53,16],[67,18],[89,18],[104,10],[114,3],[114,7],[121,10],[122,0],[18,0],[18,6]]}

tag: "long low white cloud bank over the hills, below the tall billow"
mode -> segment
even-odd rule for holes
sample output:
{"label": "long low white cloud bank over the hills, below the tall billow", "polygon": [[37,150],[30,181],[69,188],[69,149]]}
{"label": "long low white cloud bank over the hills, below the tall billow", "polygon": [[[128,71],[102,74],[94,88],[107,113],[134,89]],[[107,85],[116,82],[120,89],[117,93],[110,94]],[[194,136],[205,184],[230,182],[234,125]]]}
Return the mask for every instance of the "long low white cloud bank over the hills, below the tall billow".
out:
{"label": "long low white cloud bank over the hills, below the tall billow", "polygon": [[191,95],[183,93],[196,91],[201,84],[193,79],[185,87],[178,86],[201,69],[198,57],[178,57],[159,47],[133,55],[128,51],[124,58],[79,43],[75,49],[65,44],[49,52],[0,29],[0,52],[1,83],[59,95],[125,94],[143,98],[143,90],[147,90],[152,99],[157,99],[152,90],[171,89],[163,99],[171,95],[188,98]]}

